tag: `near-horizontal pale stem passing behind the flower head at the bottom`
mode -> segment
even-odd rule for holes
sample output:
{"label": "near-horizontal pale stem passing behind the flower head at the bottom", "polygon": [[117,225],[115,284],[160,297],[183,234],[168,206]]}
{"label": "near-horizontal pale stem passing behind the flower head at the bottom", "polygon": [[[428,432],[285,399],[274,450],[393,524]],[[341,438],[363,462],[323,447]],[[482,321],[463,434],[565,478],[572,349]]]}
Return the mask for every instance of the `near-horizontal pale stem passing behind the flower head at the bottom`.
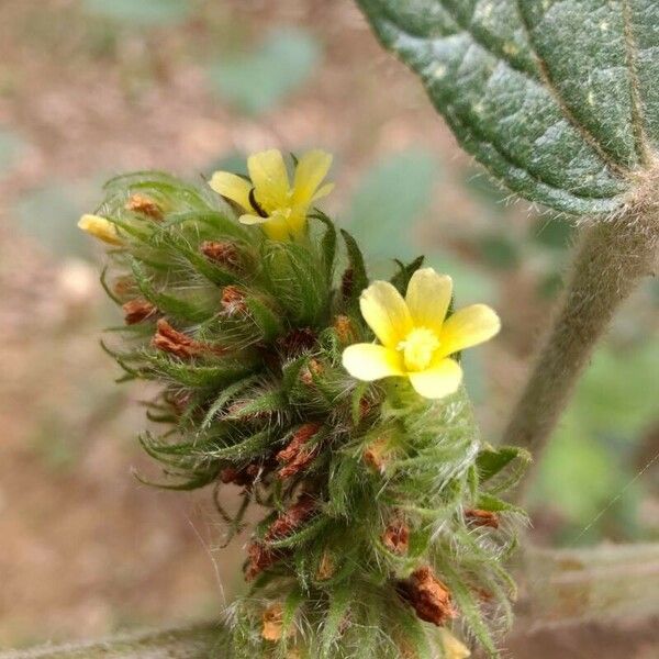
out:
{"label": "near-horizontal pale stem passing behind the flower head at the bottom", "polygon": [[[529,547],[521,566],[515,629],[610,623],[659,613],[659,544],[593,549]],[[632,615],[633,614],[633,615]],[[0,651],[0,659],[224,659],[221,623],[115,636],[104,641]]]}

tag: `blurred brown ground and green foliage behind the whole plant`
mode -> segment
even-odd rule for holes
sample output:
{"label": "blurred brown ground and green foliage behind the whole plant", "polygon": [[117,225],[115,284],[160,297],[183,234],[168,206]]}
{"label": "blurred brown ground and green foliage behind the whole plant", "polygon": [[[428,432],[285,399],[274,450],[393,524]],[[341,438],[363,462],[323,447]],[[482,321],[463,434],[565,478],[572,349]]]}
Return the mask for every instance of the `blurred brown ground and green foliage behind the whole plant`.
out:
{"label": "blurred brown ground and green foliage behind the whole plant", "polygon": [[[0,0],[0,648],[211,617],[242,588],[244,539],[217,549],[210,493],[132,474],[158,474],[135,440],[149,392],[113,383],[99,337],[120,316],[76,221],[113,174],[201,181],[270,146],[335,154],[324,208],[373,272],[424,253],[459,304],[500,310],[501,337],[466,355],[496,440],[573,232],[479,174],[351,0]],[[659,539],[658,311],[648,282],[581,381],[533,488],[534,541]],[[647,626],[556,636],[511,651],[657,656]]]}

